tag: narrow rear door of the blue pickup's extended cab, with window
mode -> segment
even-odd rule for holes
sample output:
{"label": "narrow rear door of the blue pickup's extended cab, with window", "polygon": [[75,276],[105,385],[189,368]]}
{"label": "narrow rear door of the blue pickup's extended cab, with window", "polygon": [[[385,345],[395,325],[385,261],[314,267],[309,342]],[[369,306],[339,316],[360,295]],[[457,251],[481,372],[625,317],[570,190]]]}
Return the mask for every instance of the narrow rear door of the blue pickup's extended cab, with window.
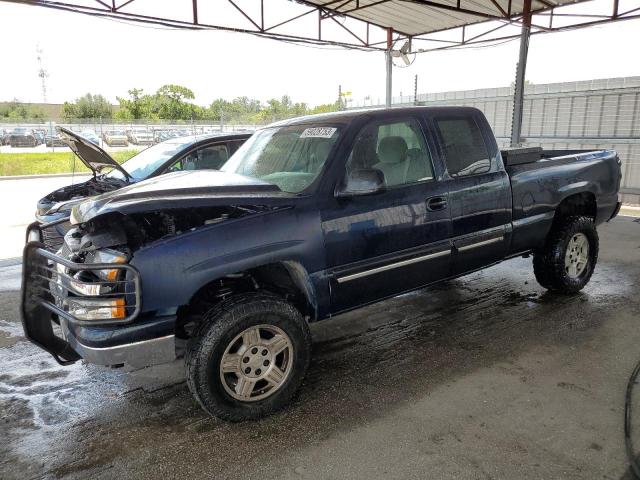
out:
{"label": "narrow rear door of the blue pickup's extended cab, with window", "polygon": [[453,272],[495,263],[511,233],[511,187],[493,133],[475,109],[434,114],[431,124],[447,168]]}

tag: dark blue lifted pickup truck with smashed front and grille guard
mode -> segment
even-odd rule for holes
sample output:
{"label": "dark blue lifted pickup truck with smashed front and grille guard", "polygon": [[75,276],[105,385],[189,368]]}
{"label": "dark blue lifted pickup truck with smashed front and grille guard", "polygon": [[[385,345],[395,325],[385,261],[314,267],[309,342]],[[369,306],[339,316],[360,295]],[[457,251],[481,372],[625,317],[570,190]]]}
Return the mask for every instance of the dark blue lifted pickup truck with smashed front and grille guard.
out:
{"label": "dark blue lifted pickup truck with smashed front and grille guard", "polygon": [[220,171],[80,203],[57,252],[33,224],[24,330],[62,364],[184,356],[207,412],[259,418],[300,386],[309,322],[516,256],[544,288],[579,291],[620,172],[614,151],[501,152],[473,108],[273,124]]}

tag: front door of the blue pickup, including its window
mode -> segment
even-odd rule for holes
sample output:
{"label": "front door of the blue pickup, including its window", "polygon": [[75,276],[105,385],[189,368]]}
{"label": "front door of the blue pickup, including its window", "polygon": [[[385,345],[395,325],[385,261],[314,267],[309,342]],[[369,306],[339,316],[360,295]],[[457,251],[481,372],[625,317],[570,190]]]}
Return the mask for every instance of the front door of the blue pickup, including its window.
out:
{"label": "front door of the blue pickup, including its window", "polygon": [[379,169],[386,191],[334,198],[322,211],[333,313],[449,275],[446,185],[434,171],[418,118],[371,121],[340,168],[340,178]]}

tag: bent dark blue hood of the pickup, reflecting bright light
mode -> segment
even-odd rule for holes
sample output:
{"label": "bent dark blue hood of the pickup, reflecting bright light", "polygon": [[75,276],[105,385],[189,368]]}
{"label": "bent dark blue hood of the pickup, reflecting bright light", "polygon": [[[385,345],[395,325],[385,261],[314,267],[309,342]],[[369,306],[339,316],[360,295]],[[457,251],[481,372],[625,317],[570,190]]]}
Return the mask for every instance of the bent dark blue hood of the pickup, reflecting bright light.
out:
{"label": "bent dark blue hood of the pickup, reflecting bright light", "polygon": [[217,170],[174,172],[104,193],[75,206],[71,223],[122,214],[218,205],[291,205],[295,195],[276,185]]}

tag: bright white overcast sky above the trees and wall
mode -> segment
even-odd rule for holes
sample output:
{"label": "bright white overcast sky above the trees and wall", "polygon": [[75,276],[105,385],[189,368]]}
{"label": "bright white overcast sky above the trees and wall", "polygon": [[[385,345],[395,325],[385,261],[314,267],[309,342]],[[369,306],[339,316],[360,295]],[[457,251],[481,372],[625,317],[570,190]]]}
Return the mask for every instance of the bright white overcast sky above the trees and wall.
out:
{"label": "bright white overcast sky above the trees and wall", "polygon": [[[630,1],[620,0],[621,5]],[[163,7],[169,4],[163,2]],[[291,11],[286,8],[291,3],[281,5],[277,14]],[[640,20],[536,35],[530,42],[527,79],[540,84],[640,75],[634,45],[640,45]],[[171,30],[0,2],[0,101],[42,101],[38,46],[49,72],[51,103],[88,92],[116,103],[116,96],[126,96],[131,88],[152,93],[169,83],[189,87],[201,105],[220,97],[265,101],[285,94],[295,102],[318,105],[334,102],[339,85],[354,100],[384,99],[381,52]],[[418,54],[410,67],[394,68],[393,95],[412,94],[415,75],[419,93],[508,86],[517,57],[518,42]]]}

